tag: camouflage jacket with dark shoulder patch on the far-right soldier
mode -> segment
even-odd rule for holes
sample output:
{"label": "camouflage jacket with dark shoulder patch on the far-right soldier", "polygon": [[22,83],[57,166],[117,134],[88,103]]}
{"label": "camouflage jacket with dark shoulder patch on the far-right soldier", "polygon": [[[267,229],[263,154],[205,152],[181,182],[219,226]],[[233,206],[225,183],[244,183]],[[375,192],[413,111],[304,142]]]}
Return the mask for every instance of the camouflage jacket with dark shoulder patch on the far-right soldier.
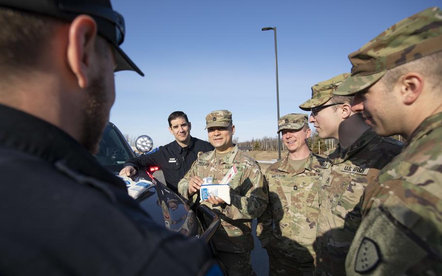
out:
{"label": "camouflage jacket with dark shoulder patch on the far-right soldier", "polygon": [[411,134],[365,197],[346,259],[349,275],[442,275],[441,149],[439,113]]}

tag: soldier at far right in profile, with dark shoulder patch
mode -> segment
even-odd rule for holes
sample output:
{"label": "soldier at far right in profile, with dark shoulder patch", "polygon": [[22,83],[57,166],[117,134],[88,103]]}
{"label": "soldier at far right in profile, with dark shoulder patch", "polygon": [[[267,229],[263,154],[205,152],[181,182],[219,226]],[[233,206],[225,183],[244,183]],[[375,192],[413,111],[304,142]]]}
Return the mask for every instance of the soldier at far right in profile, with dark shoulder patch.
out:
{"label": "soldier at far right in profile, with dark shoulder patch", "polygon": [[407,138],[363,202],[348,275],[442,275],[442,12],[408,17],[349,55],[355,95],[382,136]]}

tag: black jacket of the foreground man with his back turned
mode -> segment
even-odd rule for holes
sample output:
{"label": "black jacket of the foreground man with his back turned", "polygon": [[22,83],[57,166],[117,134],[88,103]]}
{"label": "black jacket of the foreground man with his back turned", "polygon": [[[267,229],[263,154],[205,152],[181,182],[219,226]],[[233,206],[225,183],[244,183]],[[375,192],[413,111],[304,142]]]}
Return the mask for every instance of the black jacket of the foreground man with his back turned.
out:
{"label": "black jacket of the foreground man with his back turned", "polygon": [[68,134],[2,105],[0,118],[0,275],[197,275],[212,262]]}

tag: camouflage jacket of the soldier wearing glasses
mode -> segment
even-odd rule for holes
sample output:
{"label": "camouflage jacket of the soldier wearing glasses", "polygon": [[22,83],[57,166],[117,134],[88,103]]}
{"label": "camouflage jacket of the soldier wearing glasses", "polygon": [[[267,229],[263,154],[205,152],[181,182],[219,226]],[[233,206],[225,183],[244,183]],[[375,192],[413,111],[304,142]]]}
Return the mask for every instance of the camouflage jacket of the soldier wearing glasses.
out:
{"label": "camouflage jacket of the soldier wearing glasses", "polygon": [[369,129],[347,149],[338,145],[328,156],[319,193],[316,274],[345,273],[345,257],[362,219],[365,187],[399,154],[401,146]]}

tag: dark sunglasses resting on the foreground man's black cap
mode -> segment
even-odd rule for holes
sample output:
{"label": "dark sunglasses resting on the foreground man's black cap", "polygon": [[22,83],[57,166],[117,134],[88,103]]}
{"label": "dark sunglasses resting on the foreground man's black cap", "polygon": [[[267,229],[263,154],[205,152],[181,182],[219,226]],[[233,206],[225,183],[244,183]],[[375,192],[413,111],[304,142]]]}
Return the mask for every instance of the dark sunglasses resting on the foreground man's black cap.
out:
{"label": "dark sunglasses resting on the foreground man's black cap", "polygon": [[[118,12],[112,10],[111,8],[97,6],[97,5],[90,5],[90,6],[76,6],[76,5],[66,5],[66,4],[59,4],[59,9],[61,11],[69,12],[69,13],[76,13],[76,14],[87,14],[92,17],[100,17],[102,19],[105,19],[115,25],[115,38],[114,37],[108,37],[106,35],[107,32],[102,32],[104,36],[106,36],[107,39],[115,43],[116,45],[120,45],[124,41],[124,34],[125,34],[125,25],[124,25],[124,18],[122,15],[120,15]],[[100,30],[100,26],[99,26]]]}

